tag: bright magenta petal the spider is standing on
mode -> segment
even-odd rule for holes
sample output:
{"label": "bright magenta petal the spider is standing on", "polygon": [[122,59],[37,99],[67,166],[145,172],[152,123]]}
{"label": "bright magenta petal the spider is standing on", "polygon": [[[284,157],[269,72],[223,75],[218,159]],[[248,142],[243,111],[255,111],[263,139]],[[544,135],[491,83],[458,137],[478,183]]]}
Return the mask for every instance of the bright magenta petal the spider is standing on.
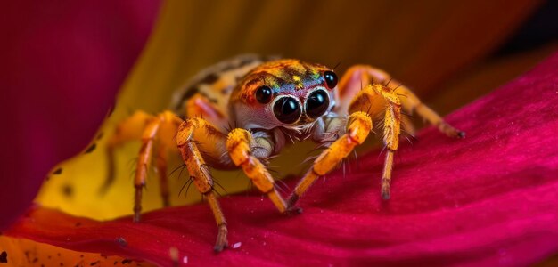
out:
{"label": "bright magenta petal the spider is standing on", "polygon": [[447,117],[464,140],[429,127],[403,144],[389,201],[380,198],[378,152],[345,178],[316,182],[300,201],[304,214],[277,214],[259,195],[221,198],[237,248],[219,255],[205,205],[154,211],[142,223],[33,208],[7,234],[164,265],[170,247],[209,265],[537,263],[558,251],[556,69],[558,54]]}

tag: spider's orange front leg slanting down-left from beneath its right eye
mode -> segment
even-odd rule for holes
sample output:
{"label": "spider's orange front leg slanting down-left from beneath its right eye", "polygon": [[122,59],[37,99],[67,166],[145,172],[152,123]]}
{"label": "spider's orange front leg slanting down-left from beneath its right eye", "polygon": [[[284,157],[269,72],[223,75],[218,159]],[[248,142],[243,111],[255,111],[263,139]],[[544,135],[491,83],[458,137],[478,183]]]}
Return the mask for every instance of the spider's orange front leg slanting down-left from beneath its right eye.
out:
{"label": "spider's orange front leg slanting down-left from beneath its right eye", "polygon": [[368,114],[361,111],[352,113],[347,122],[347,134],[343,134],[316,158],[287,200],[288,207],[294,206],[318,177],[331,172],[357,145],[365,142],[371,129],[372,119]]}

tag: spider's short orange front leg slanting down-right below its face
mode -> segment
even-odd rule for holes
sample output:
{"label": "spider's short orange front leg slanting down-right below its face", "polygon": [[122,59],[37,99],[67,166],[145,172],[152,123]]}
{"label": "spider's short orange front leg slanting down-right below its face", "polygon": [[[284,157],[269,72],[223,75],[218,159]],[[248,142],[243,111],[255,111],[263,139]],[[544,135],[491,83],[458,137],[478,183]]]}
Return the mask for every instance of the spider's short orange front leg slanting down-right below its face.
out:
{"label": "spider's short orange front leg slanting down-right below its face", "polygon": [[[262,143],[258,143],[258,146],[261,145]],[[264,146],[266,145],[271,150],[271,144],[265,143]],[[258,190],[267,194],[267,197],[273,202],[279,212],[290,212],[291,210],[287,210],[285,201],[275,189],[273,176],[269,174],[266,166],[258,158],[251,155],[252,151],[250,148],[253,146],[255,146],[255,141],[252,138],[252,134],[247,130],[236,128],[228,134],[226,150],[228,150],[234,165],[242,167],[244,174],[254,182]]]}

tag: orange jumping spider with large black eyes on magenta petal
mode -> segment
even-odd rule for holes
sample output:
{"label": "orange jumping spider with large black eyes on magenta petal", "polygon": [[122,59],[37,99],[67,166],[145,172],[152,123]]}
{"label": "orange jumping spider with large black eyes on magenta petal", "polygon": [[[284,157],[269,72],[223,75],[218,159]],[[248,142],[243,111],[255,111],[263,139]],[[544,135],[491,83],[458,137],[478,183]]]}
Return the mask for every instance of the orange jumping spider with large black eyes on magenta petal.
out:
{"label": "orange jumping spider with large black eyes on magenta petal", "polygon": [[[332,69],[320,64],[242,55],[202,70],[175,93],[167,111],[157,115],[136,111],[121,121],[109,141],[108,158],[111,163],[113,150],[123,142],[141,140],[134,182],[134,221],[138,222],[152,158],[160,176],[160,194],[164,206],[168,206],[167,159],[170,153],[179,153],[215,216],[214,250],[219,252],[228,246],[227,227],[209,167],[242,168],[279,212],[299,213],[297,200],[318,177],[331,172],[365,142],[374,118],[379,117],[386,148],[381,194],[389,199],[401,128],[414,133],[408,118],[401,116],[402,109],[418,114],[450,137],[464,137],[464,132],[448,125],[406,86],[380,69],[356,65],[339,79]],[[311,139],[326,149],[291,196],[284,199],[275,189],[267,159],[293,139]],[[113,168],[111,163],[110,177]]]}

